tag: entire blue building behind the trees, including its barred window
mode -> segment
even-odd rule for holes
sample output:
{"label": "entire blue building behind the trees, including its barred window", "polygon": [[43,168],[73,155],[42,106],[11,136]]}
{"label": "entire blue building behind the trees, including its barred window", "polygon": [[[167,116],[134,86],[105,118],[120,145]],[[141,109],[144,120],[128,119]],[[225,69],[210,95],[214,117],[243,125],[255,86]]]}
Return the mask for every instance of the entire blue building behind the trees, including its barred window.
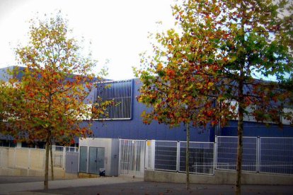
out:
{"label": "entire blue building behind the trees, including its barred window", "polygon": [[[0,69],[0,80],[7,81],[7,69],[14,67]],[[21,79],[21,76],[21,73],[18,73],[16,78]],[[108,107],[107,115],[94,119],[91,126],[93,137],[186,141],[183,125],[170,129],[168,125],[156,121],[149,125],[142,122],[141,114],[149,108],[137,102],[136,97],[139,95],[141,85],[139,79],[134,78],[125,81],[105,81],[93,88],[88,95],[88,101],[113,100],[115,105]],[[245,117],[243,136],[293,137],[293,127],[285,120],[283,124],[281,129],[277,124],[267,126],[253,121],[251,117]],[[190,141],[213,142],[214,136],[237,136],[237,121],[231,120],[229,126],[224,128],[207,126],[205,129],[194,127],[190,129]]]}

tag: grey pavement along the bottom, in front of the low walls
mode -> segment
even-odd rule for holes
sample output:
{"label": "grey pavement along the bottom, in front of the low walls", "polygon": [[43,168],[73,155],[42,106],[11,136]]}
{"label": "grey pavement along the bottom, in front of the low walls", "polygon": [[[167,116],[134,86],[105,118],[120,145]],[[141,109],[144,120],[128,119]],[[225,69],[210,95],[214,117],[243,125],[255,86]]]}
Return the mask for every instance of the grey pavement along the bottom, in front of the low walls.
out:
{"label": "grey pavement along the bottom, in front of the low walls", "polygon": [[[59,179],[43,189],[42,177],[0,176],[0,194],[234,194],[233,185],[144,182],[132,177],[98,177],[90,179]],[[242,194],[293,194],[293,186],[243,185]]]}

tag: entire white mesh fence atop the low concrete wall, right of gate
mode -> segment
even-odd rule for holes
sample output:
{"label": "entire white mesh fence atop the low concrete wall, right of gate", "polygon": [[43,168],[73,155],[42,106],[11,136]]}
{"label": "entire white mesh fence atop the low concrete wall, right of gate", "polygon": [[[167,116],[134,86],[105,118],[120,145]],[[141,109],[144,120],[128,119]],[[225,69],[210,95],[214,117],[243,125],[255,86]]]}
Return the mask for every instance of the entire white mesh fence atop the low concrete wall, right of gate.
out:
{"label": "entire white mesh fence atop the low concrete wall, right of gate", "polygon": [[[215,143],[190,142],[189,170],[214,175],[214,170],[236,170],[237,137],[217,136]],[[185,141],[146,141],[145,168],[185,172]],[[293,138],[243,137],[242,170],[293,174]]]}

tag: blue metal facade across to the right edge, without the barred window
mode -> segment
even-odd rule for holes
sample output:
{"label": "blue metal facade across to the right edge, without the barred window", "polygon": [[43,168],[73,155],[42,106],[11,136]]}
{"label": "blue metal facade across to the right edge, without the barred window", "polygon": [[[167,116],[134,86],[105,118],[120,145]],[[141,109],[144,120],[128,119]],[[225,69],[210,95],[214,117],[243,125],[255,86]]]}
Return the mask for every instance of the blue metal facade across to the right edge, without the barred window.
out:
{"label": "blue metal facade across to the right edge, without the barred window", "polygon": [[[139,79],[133,79],[132,119],[130,120],[109,120],[95,121],[91,127],[93,136],[98,138],[128,138],[128,139],[156,139],[166,141],[186,141],[185,126],[181,125],[170,129],[166,124],[158,124],[153,121],[151,124],[143,124],[140,115],[148,110],[145,105],[137,102],[139,87],[142,85]],[[93,96],[91,94],[90,96]],[[90,98],[93,100],[93,98]],[[190,141],[214,141],[215,128],[207,126],[206,129],[190,129]],[[265,137],[293,137],[293,127],[276,124],[266,126],[258,122],[244,122],[243,136],[265,136]],[[237,136],[237,121],[231,121],[229,126],[219,130],[217,136]]]}

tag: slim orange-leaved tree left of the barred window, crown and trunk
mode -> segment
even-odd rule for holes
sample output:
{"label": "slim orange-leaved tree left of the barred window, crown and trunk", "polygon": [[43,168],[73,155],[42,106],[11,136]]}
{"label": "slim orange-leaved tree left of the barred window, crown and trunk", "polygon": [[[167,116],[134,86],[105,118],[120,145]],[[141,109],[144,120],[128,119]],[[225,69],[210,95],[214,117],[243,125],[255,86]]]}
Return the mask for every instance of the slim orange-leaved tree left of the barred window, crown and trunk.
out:
{"label": "slim orange-leaved tree left of the barred window, crown and trunk", "polygon": [[28,46],[16,49],[19,64],[25,68],[21,81],[13,83],[21,95],[11,104],[13,128],[6,129],[6,134],[16,140],[45,141],[45,189],[52,141],[73,144],[74,138],[92,134],[90,122],[80,124],[91,118],[85,100],[99,77],[91,73],[95,61],[82,57],[81,47],[68,32],[67,20],[59,13],[46,20],[31,20]]}

